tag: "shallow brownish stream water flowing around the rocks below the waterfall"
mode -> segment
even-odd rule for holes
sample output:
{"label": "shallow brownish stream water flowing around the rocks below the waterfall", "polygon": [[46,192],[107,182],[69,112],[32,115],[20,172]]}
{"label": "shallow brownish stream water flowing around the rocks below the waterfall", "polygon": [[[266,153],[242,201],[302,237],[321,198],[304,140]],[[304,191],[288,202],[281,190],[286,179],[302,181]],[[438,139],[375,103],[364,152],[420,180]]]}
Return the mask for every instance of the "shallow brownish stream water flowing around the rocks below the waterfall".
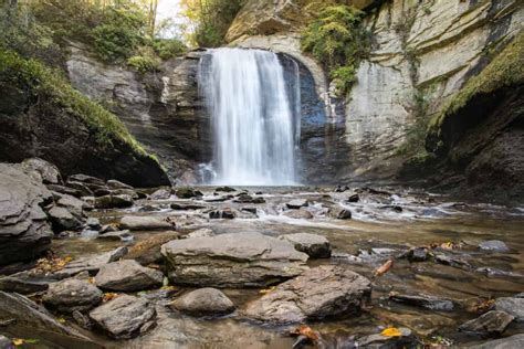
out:
{"label": "shallow brownish stream water flowing around the rocks below the waterfall", "polygon": [[[326,319],[310,324],[323,337],[325,348],[349,348],[352,336],[380,332],[384,327],[408,327],[427,342],[444,338],[453,347],[463,347],[481,339],[458,332],[464,321],[479,316],[471,310],[483,299],[511,296],[524,290],[524,210],[488,204],[450,202],[431,194],[409,192],[360,194],[360,201],[347,203],[348,193],[325,189],[303,188],[248,188],[265,199],[262,204],[242,204],[232,200],[210,202],[217,195],[212,188],[200,188],[200,200],[140,201],[132,209],[102,211],[94,214],[103,222],[117,221],[122,215],[170,216],[182,234],[199,228],[210,228],[217,234],[253,231],[269,235],[307,232],[325,235],[334,247],[329,260],[312,260],[311,266],[339,264],[373,279],[374,290],[370,309],[360,316],[346,319]],[[234,193],[233,193],[234,194]],[[221,193],[219,193],[221,195]],[[293,219],[284,214],[285,203],[292,199],[308,199],[306,209],[311,219]],[[233,208],[239,216],[234,220],[209,220],[208,209],[174,211],[171,202],[198,203],[208,208]],[[147,205],[148,212],[140,212]],[[354,219],[335,220],[328,209],[343,205],[352,210]],[[241,209],[255,207],[256,215]],[[151,211],[153,210],[153,211]],[[243,212],[243,213],[242,213]],[[158,232],[134,232],[142,241]],[[502,240],[511,252],[485,253],[476,245],[485,240]],[[467,268],[442,265],[434,261],[410,263],[397,260],[389,273],[373,278],[376,267],[394,255],[412,246],[433,243],[460,243],[463,248],[438,251],[464,260]],[[54,241],[59,255],[78,256],[114,248],[122,243],[92,239]],[[179,288],[180,292],[187,289]],[[452,299],[458,306],[452,311],[429,310],[388,299],[391,292],[426,294]],[[258,288],[226,289],[237,304],[238,311],[221,318],[195,318],[157,306],[158,326],[151,332],[127,341],[126,348],[291,348],[294,338],[285,335],[293,326],[273,327],[253,322],[242,316],[245,305],[261,296]],[[154,294],[153,292],[151,294]],[[139,293],[145,296],[147,293]],[[67,319],[69,321],[69,319]],[[522,332],[523,324],[512,324],[505,335]],[[90,336],[93,336],[90,334]],[[107,347],[122,347],[122,342],[97,337]]]}

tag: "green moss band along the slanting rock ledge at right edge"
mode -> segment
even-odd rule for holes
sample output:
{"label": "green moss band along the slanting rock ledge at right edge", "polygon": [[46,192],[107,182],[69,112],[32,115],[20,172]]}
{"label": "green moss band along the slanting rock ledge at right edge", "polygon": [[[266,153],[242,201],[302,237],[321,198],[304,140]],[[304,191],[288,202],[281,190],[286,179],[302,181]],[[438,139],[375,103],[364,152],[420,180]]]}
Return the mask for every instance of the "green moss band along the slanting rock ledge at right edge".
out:
{"label": "green moss band along the slanting rock ledge at right edge", "polygon": [[458,117],[457,112],[474,96],[490,94],[523,82],[524,31],[521,31],[479,75],[470,78],[465,86],[442,107],[441,112],[430,121],[430,131],[438,131],[446,118]]}

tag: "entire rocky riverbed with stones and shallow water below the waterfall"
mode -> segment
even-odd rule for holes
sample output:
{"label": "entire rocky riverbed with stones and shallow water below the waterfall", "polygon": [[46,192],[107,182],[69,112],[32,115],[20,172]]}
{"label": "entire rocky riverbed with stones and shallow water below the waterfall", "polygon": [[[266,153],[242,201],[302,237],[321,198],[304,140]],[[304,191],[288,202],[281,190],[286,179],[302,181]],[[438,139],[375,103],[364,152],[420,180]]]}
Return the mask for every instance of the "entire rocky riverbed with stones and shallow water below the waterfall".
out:
{"label": "entire rocky riverbed with stones and shallow water below the waterfall", "polygon": [[0,348],[524,342],[523,208],[0,170]]}

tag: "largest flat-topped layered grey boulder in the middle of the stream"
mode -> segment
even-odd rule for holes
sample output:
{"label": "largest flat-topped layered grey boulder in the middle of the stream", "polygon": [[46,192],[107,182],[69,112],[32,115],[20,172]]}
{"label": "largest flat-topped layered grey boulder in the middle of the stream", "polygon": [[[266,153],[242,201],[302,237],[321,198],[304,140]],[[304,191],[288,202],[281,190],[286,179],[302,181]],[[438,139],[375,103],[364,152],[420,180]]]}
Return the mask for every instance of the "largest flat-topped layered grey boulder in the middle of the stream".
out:
{"label": "largest flat-topped layered grey boulder in the middle of the stream", "polygon": [[306,254],[259,233],[171,241],[161,254],[171,281],[197,286],[265,286],[307,269]]}

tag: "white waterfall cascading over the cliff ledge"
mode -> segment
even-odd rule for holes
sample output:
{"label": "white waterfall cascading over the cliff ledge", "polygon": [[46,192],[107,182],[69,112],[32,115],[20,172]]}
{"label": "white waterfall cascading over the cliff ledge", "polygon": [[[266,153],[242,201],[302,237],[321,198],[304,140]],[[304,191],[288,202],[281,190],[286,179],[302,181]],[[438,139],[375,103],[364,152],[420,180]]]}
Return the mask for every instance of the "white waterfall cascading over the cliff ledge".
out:
{"label": "white waterfall cascading over the cliff ledge", "polygon": [[297,128],[279,56],[210,50],[200,62],[199,84],[212,119],[213,183],[294,184]]}

